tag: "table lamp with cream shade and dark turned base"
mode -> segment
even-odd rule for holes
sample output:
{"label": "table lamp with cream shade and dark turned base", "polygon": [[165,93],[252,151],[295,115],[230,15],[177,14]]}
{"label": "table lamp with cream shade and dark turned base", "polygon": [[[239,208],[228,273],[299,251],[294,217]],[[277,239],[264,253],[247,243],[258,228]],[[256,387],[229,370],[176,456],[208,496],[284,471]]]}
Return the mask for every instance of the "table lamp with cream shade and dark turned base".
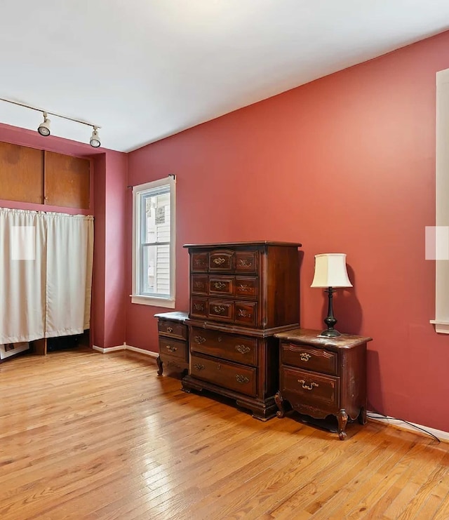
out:
{"label": "table lamp with cream shade and dark turned base", "polygon": [[327,338],[339,336],[340,333],[334,328],[337,320],[333,313],[332,300],[335,287],[352,287],[346,269],[346,255],[344,253],[315,255],[315,274],[311,287],[326,287],[324,292],[328,293],[328,315],[324,319],[328,328],[320,335]]}

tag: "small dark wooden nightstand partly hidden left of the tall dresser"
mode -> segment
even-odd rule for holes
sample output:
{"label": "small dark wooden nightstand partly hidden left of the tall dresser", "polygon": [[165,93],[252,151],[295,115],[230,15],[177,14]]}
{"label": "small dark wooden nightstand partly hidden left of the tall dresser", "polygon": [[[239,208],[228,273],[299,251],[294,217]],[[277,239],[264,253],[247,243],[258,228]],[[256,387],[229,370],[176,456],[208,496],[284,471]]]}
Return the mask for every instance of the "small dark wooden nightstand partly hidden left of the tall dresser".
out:
{"label": "small dark wooden nightstand partly hidden left of the tall dresser", "polygon": [[157,375],[162,375],[163,367],[168,370],[187,373],[189,348],[187,345],[188,328],[185,324],[187,312],[163,312],[154,314],[158,319],[159,356]]}

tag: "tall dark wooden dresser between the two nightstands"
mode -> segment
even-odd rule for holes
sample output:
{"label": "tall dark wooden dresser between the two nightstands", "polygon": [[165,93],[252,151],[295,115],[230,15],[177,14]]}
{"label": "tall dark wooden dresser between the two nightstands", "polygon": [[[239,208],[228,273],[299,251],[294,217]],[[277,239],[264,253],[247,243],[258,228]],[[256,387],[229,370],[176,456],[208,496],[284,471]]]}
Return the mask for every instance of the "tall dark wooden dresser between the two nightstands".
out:
{"label": "tall dark wooden dresser between the two nightstands", "polygon": [[279,347],[275,333],[297,327],[301,244],[239,242],[189,250],[189,373],[186,391],[208,390],[276,415]]}

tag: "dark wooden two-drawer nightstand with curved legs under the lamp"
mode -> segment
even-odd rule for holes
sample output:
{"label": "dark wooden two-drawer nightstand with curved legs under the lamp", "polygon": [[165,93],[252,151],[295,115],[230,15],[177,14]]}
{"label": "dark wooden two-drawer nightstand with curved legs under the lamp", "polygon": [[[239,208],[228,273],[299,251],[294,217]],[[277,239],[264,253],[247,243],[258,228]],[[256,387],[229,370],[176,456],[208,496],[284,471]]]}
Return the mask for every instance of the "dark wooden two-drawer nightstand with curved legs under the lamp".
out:
{"label": "dark wooden two-drawer nightstand with curved legs under the lamp", "polygon": [[366,424],[366,344],[372,338],[319,334],[304,328],[276,334],[280,342],[277,415],[283,417],[285,401],[313,418],[335,415],[343,440],[349,419]]}

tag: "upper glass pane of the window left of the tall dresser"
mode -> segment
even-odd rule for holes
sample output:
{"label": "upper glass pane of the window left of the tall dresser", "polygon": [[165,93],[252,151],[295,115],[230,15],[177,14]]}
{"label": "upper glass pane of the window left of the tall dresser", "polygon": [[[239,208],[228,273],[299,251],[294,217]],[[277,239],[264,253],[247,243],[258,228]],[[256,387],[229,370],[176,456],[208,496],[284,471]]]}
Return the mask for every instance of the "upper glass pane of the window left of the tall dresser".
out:
{"label": "upper glass pane of the window left of the tall dresser", "polygon": [[170,192],[144,196],[145,222],[142,241],[144,244],[170,241]]}

